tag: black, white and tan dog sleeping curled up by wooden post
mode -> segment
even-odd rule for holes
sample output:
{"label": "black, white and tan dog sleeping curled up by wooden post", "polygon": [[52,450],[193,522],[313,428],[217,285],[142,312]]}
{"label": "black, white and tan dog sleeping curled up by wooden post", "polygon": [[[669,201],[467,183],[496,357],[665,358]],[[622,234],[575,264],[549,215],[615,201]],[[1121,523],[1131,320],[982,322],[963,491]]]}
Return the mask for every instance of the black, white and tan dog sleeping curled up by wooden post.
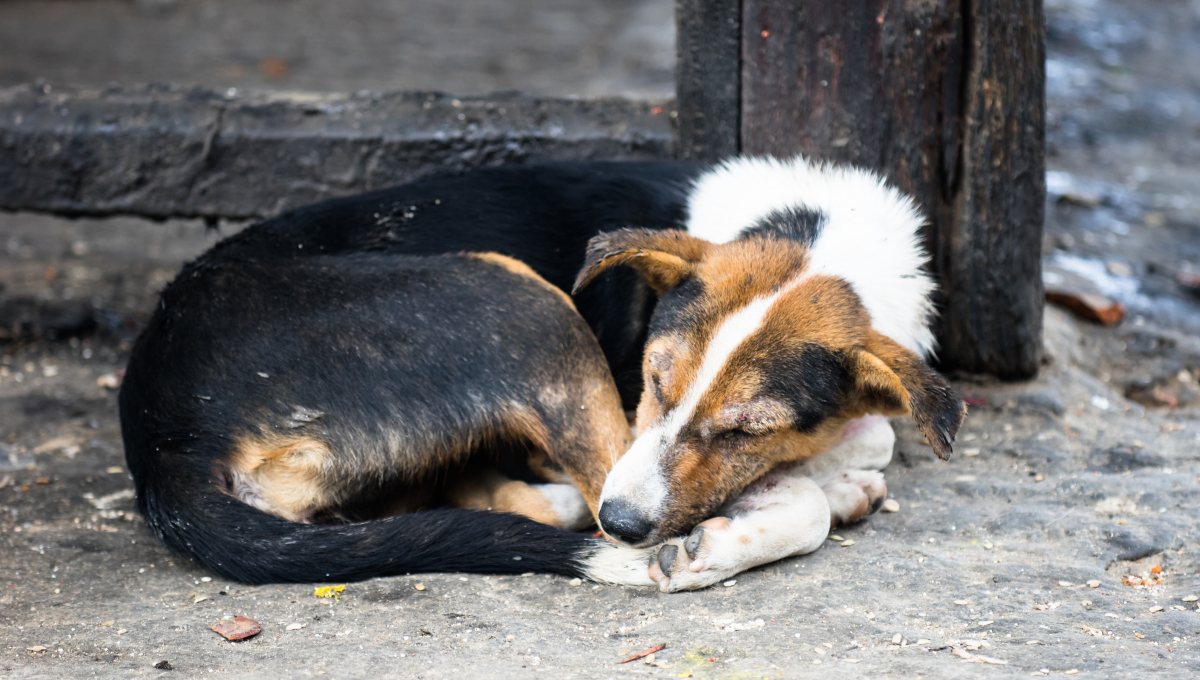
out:
{"label": "black, white and tan dog sleeping curled up by wooden post", "polygon": [[247,583],[674,591],[811,552],[886,497],[884,416],[943,458],[964,417],[923,361],[922,222],[802,158],[494,168],[281,215],[186,265],[133,348],[139,510]]}

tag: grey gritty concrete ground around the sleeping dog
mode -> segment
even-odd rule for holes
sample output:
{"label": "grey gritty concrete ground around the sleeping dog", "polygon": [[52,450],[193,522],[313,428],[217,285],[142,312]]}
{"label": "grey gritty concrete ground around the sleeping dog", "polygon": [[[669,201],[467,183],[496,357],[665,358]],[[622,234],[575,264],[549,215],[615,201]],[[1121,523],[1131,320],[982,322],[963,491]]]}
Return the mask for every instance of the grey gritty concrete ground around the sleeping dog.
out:
{"label": "grey gritty concrete ground around the sleeping dog", "polygon": [[[0,25],[24,4],[5,5]],[[727,588],[413,574],[334,602],[210,579],[133,512],[107,385],[156,290],[223,234],[0,215],[0,674],[1195,676],[1200,297],[1176,277],[1200,273],[1200,6],[1046,5],[1046,263],[1127,320],[1049,307],[1037,380],[956,377],[973,405],[949,463],[896,421],[899,512]],[[232,615],[263,632],[209,631]]]}

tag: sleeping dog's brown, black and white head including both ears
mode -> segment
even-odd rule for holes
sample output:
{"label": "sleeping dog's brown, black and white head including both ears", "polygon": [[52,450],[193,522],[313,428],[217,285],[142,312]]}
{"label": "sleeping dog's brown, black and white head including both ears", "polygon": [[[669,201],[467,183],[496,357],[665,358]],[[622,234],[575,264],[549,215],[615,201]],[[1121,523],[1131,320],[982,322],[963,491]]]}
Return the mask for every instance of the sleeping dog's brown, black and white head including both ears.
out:
{"label": "sleeping dog's brown, black and white head including both ears", "polygon": [[626,229],[593,239],[576,289],[617,264],[640,270],[660,301],[638,437],[600,497],[608,535],[646,546],[686,534],[770,468],[830,449],[866,414],[911,413],[949,455],[962,402],[920,357],[871,330],[850,284],[806,271],[803,243]]}

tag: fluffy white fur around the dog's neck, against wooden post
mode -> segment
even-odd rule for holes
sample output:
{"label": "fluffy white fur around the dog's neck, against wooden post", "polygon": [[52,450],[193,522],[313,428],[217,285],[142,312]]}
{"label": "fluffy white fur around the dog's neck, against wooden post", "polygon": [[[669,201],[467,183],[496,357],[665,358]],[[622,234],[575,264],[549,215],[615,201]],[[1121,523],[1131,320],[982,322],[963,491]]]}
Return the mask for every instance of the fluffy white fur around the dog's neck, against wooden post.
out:
{"label": "fluffy white fur around the dog's neck, against wooden post", "polygon": [[925,219],[911,198],[878,175],[803,157],[726,161],[695,180],[688,233],[725,243],[786,209],[826,217],[806,273],[850,283],[877,332],[928,356],[935,343],[929,329],[934,282],[922,271]]}

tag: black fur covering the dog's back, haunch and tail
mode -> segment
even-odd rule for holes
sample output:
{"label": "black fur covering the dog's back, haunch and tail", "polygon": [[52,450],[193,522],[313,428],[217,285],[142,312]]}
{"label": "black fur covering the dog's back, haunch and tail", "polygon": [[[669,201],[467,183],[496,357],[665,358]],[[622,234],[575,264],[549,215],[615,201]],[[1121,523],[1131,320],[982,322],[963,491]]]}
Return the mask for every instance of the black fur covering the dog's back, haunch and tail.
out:
{"label": "black fur covering the dog's back, haunch and tail", "polygon": [[[511,377],[529,366],[554,374],[556,361],[577,355],[578,330],[554,326],[570,317],[540,312],[554,295],[528,288],[532,279],[430,255],[506,254],[565,291],[592,236],[680,228],[698,170],[563,163],[430,177],[283,213],[188,263],[138,338],[120,393],[126,461],[151,530],[245,583],[422,571],[580,576],[581,559],[600,544],[586,534],[457,509],[294,523],[230,495],[221,461],[253,427],[310,428],[347,459],[365,456],[356,445],[378,440],[383,423],[404,422],[397,414],[424,419],[416,429],[433,437],[472,431],[493,402],[515,398],[514,385],[538,387],[538,375]],[[636,403],[653,293],[618,270],[575,302],[623,399]],[[518,363],[514,347],[528,350]],[[347,483],[364,493],[385,493],[403,474],[358,464],[352,471],[371,474]]]}

